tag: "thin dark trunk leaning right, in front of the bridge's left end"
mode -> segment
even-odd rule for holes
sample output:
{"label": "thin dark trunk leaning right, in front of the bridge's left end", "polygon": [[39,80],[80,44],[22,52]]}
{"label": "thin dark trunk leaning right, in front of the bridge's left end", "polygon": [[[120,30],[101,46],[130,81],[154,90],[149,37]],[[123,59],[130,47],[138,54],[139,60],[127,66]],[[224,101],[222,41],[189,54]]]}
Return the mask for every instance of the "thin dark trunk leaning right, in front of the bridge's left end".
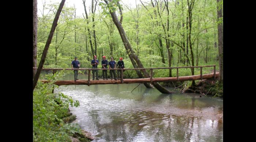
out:
{"label": "thin dark trunk leaning right, in front of the bridge's left end", "polygon": [[38,68],[37,68],[37,72],[35,73],[35,77],[34,77],[34,80],[33,80],[33,91],[35,89],[35,86],[37,85],[37,81],[39,79],[39,75],[40,75],[41,70],[42,70],[42,68],[44,66],[46,55],[47,55],[47,51],[49,49],[50,43],[52,42],[53,33],[54,33],[55,28],[57,26],[57,22],[59,20],[60,12],[61,12],[61,10],[62,10],[62,8],[64,6],[64,3],[65,3],[65,0],[61,0],[60,6],[58,8],[58,11],[57,11],[57,13],[56,13],[56,15],[54,17],[54,20],[53,20],[53,23],[52,23],[52,28],[50,30],[48,39],[47,39],[46,44],[45,44],[44,51],[42,53],[42,57],[41,57],[40,63],[39,63]]}

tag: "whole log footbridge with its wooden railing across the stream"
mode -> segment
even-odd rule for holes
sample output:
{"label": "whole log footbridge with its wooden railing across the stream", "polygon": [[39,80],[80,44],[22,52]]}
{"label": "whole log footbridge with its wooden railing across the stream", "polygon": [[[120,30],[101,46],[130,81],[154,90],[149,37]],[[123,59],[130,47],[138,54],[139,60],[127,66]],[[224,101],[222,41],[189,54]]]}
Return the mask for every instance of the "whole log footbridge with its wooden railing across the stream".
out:
{"label": "whole log footbridge with its wooden railing across the stream", "polygon": [[[214,67],[214,73],[212,74],[202,74],[203,67]],[[178,70],[179,68],[200,68],[200,75],[192,75],[192,76],[179,76]],[[37,69],[34,68],[33,69]],[[162,78],[153,78],[153,70],[157,69],[176,69],[177,70],[177,76],[176,77],[162,77]],[[88,79],[86,80],[57,80],[54,82],[54,84],[60,86],[60,85],[95,85],[95,84],[123,84],[123,83],[152,83],[152,82],[176,82],[176,81],[188,81],[188,80],[202,80],[202,79],[211,79],[211,78],[217,78],[219,76],[219,73],[216,73],[216,65],[209,65],[209,66],[190,66],[190,67],[161,67],[161,68],[78,68],[78,69],[71,69],[71,68],[42,68],[42,70],[52,70],[53,74],[57,70],[88,70]],[[91,70],[121,70],[121,78],[120,80],[91,80],[90,74]],[[123,72],[124,70],[150,70],[150,76],[148,78],[139,78],[139,79],[124,79],[123,78]],[[47,83],[48,80],[39,80],[41,82]]]}

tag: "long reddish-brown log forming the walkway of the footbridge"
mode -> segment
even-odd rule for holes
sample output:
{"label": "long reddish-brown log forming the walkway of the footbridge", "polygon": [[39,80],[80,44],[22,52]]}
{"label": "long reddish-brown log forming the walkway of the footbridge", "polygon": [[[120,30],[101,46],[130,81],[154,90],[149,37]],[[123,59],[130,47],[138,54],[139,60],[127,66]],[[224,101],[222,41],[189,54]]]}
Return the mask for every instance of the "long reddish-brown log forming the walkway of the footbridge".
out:
{"label": "long reddish-brown log forming the walkway of the footbridge", "polygon": [[[219,76],[219,73],[216,73],[216,78]],[[204,74],[202,75],[202,79],[210,79],[214,78],[214,74]],[[179,76],[178,81],[188,81],[188,80],[200,80],[201,75],[193,75],[193,76]],[[41,82],[47,83],[48,80],[40,80]],[[123,83],[147,83],[150,82],[150,78],[139,78],[139,79],[123,79]],[[153,78],[152,82],[173,82],[177,81],[177,77],[166,77],[166,78]],[[57,80],[54,84],[60,85],[95,85],[95,84],[122,84],[121,80]]]}

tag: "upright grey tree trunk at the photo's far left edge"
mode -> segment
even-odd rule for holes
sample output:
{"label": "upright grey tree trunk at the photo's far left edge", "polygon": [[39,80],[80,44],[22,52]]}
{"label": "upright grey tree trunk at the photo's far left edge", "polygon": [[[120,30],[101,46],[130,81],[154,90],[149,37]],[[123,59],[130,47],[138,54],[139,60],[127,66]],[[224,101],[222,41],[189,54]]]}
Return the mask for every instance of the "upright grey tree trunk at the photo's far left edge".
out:
{"label": "upright grey tree trunk at the photo's far left edge", "polygon": [[[37,67],[37,0],[33,0],[33,67]],[[36,70],[33,70],[33,77]]]}

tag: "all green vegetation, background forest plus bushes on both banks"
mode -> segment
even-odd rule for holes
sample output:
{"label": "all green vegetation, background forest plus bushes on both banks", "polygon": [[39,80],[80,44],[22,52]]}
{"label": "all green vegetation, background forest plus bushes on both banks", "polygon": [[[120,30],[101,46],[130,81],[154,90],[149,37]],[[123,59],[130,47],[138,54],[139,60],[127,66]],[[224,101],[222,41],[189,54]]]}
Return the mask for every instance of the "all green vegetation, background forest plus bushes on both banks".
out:
{"label": "all green vegetation, background forest plus bushes on both banks", "polygon": [[[216,64],[217,72],[219,70],[221,74],[223,70],[223,39],[219,34],[223,31],[222,0],[135,0],[136,7],[133,8],[120,0],[92,0],[89,8],[83,0],[85,15],[76,15],[75,5],[64,5],[60,8],[59,19],[55,20],[57,26],[53,21],[55,16],[58,17],[56,13],[60,4],[43,2],[43,9],[37,12],[37,0],[33,2],[33,13],[37,13],[33,16],[33,67],[38,67],[44,55],[39,68],[70,68],[75,56],[80,68],[91,68],[94,55],[99,61],[105,55],[106,59],[113,56],[116,61],[123,57],[125,68]],[[62,6],[64,2],[62,0]],[[118,21],[113,20],[115,18]],[[54,34],[49,45],[46,41],[52,27],[55,30],[51,32]],[[45,48],[46,45],[49,49]],[[79,102],[62,93],[52,93],[53,87],[57,87],[54,80],[67,72],[72,71],[58,71],[46,76],[52,81],[48,84],[37,82],[39,74],[33,72],[36,76],[33,89],[37,85],[33,90],[34,141],[71,141],[70,136],[82,133],[77,124],[69,123],[75,116],[70,116],[68,107],[78,107]],[[149,70],[147,72],[150,74]],[[212,72],[213,67],[203,68],[203,74]],[[176,73],[176,70],[154,70],[154,77],[177,76]],[[179,76],[199,74],[200,68],[179,69]],[[124,71],[124,78],[138,78],[138,75],[136,71]],[[186,88],[195,84],[185,83]],[[223,96],[223,83],[206,83],[204,90]],[[88,141],[83,137],[79,139]]]}

